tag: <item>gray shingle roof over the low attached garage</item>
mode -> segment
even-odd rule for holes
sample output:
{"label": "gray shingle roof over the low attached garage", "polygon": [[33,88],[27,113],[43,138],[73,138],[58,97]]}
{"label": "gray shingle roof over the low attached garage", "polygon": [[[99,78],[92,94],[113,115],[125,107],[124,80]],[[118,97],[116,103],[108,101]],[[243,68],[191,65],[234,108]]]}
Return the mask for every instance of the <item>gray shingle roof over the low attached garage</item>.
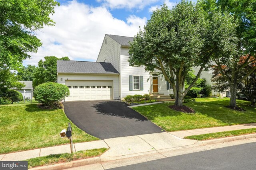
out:
{"label": "gray shingle roof over the low attached garage", "polygon": [[111,63],[57,60],[58,73],[119,74]]}

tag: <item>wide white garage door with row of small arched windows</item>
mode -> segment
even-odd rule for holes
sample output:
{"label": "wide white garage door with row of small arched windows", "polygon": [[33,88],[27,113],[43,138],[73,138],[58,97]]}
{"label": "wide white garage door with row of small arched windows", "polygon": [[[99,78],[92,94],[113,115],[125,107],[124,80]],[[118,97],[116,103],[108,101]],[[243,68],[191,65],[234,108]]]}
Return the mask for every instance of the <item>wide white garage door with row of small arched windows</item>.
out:
{"label": "wide white garage door with row of small arched windows", "polygon": [[66,80],[70,96],[65,101],[110,100],[112,99],[112,81]]}

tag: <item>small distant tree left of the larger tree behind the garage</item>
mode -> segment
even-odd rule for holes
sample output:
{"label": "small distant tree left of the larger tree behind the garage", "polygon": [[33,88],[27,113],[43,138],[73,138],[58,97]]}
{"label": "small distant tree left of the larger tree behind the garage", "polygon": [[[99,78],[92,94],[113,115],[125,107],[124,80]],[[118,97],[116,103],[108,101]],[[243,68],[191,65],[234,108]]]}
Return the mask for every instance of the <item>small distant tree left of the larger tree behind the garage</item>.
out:
{"label": "small distant tree left of the larger tree behind the garage", "polygon": [[28,64],[28,66],[23,66],[17,75],[20,77],[19,80],[33,81],[35,72],[36,66]]}

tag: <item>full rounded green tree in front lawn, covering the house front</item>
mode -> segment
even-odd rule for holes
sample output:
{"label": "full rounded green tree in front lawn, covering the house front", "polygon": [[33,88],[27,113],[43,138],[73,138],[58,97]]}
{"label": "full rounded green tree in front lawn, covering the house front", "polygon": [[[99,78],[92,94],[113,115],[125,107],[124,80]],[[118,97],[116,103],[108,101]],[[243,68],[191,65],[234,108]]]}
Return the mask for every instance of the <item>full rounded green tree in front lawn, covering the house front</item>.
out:
{"label": "full rounded green tree in front lawn, covering the house front", "polygon": [[[202,70],[207,69],[212,55],[232,48],[232,17],[213,12],[212,17],[198,4],[182,0],[171,10],[164,4],[153,12],[144,30],[134,37],[129,50],[130,64],[144,65],[147,71],[160,71],[170,82],[176,106],[194,86]],[[192,66],[200,70],[184,90],[186,76]]]}

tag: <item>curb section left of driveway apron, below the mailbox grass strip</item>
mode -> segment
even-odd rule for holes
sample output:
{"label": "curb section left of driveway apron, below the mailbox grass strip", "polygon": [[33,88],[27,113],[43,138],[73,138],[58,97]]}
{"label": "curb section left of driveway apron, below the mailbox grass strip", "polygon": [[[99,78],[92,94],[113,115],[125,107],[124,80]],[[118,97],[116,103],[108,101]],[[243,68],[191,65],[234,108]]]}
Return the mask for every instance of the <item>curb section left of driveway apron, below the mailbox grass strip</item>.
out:
{"label": "curb section left of driveway apron, below the mailbox grass strip", "polygon": [[63,170],[63,169],[67,169],[67,168],[73,168],[73,167],[84,166],[84,165],[89,165],[89,164],[96,164],[96,163],[100,163],[99,156],[94,157],[94,158],[87,158],[87,159],[66,162],[66,163],[55,164],[55,165],[30,168],[30,170]]}

